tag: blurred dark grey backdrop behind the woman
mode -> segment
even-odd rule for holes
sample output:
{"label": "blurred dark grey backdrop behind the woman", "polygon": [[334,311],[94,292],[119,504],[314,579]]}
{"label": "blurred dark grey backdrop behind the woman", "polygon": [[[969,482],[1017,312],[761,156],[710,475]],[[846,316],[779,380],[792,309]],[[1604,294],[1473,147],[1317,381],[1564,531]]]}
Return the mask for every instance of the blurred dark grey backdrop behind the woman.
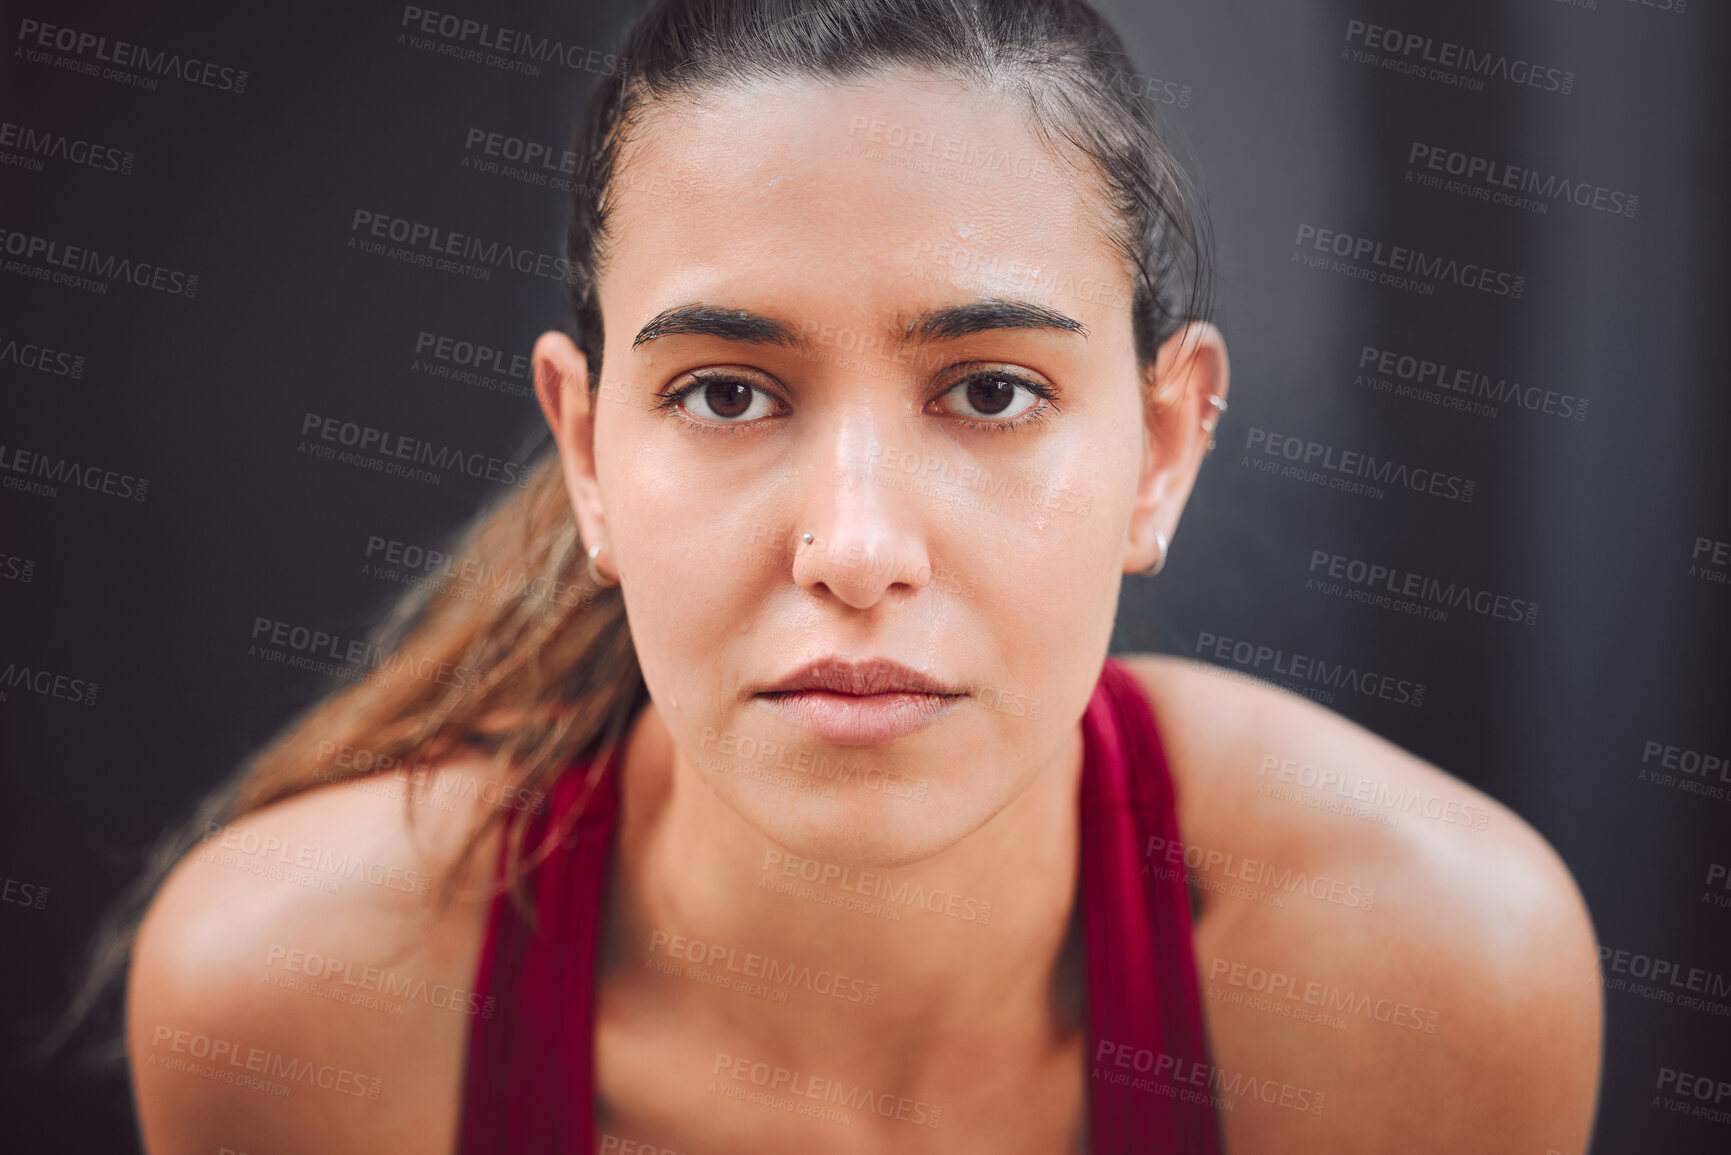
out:
{"label": "blurred dark grey backdrop behind the woman", "polygon": [[[628,12],[422,7],[597,48]],[[0,346],[85,358],[78,377],[0,358],[0,445],[149,480],[144,502],[0,490],[0,668],[100,684],[93,705],[0,700],[0,873],[48,888],[40,911],[0,902],[9,1042],[64,999],[149,840],[322,689],[248,656],[254,618],[358,637],[400,590],[362,575],[369,537],[438,545],[497,492],[306,457],[303,414],[497,457],[524,457],[538,435],[528,397],[410,365],[421,331],[526,353],[563,322],[561,284],[365,256],[346,248],[350,218],[365,208],[559,253],[563,194],[466,170],[464,140],[483,128],[561,149],[594,76],[549,64],[526,78],[400,45],[402,10],[3,7],[0,119],[133,163],[0,165],[0,227],[199,275],[187,300],[0,272]],[[1731,539],[1724,9],[1108,12],[1194,152],[1232,352],[1220,448],[1167,571],[1127,580],[1113,648],[1194,655],[1215,634],[1423,682],[1421,708],[1347,693],[1331,705],[1523,814],[1568,861],[1603,945],[1731,975],[1731,909],[1703,897],[1710,864],[1731,862],[1731,793],[1638,778],[1648,741],[1731,753],[1731,585],[1688,573],[1698,537]],[[244,68],[248,87],[164,78],[142,92],[33,62],[17,54],[24,17]],[[1343,59],[1348,19],[1568,69],[1573,90],[1468,92]],[[1532,215],[1421,189],[1404,180],[1414,140],[1634,192],[1639,210]],[[1305,268],[1300,223],[1520,272],[1525,293],[1418,296]],[[1373,391],[1354,383],[1366,345],[1587,398],[1587,419],[1508,405],[1475,417]],[[1243,464],[1252,428],[1473,478],[1475,499],[1376,500],[1269,476]],[[1321,596],[1305,589],[1319,549],[1537,601],[1539,618],[1425,622]],[[1629,992],[1606,992],[1606,1018],[1593,1150],[1726,1150],[1731,1126],[1653,1101],[1660,1067],[1731,1079],[1731,1020]],[[118,1079],[9,1067],[3,1093],[9,1146],[135,1145]]]}

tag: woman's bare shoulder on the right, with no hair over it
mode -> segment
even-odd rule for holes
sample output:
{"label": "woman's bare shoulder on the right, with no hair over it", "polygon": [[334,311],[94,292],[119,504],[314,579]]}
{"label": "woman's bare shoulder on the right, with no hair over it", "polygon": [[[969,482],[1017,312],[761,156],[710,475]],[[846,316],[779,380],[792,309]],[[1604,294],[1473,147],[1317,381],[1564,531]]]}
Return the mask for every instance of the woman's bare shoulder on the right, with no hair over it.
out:
{"label": "woman's bare shoulder on the right, with no hair over it", "polygon": [[1125,663],[1179,793],[1167,857],[1201,895],[1213,1058],[1227,1086],[1284,1089],[1222,1110],[1232,1150],[1584,1152],[1598,947],[1551,845],[1298,694]]}

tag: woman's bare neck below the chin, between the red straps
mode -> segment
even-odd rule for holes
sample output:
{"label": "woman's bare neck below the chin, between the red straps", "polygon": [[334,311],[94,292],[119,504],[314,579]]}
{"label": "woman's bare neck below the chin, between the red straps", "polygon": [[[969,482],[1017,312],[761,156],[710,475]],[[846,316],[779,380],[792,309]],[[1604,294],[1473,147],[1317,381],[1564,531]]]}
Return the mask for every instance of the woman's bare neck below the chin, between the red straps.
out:
{"label": "woman's bare neck below the chin, between the red straps", "polygon": [[904,1056],[978,1039],[981,1023],[1063,1032],[1080,772],[1078,726],[1021,795],[938,855],[801,871],[710,791],[651,701],[621,760],[609,968],[789,1058],[834,1053],[843,1032],[872,1044],[859,1055]]}

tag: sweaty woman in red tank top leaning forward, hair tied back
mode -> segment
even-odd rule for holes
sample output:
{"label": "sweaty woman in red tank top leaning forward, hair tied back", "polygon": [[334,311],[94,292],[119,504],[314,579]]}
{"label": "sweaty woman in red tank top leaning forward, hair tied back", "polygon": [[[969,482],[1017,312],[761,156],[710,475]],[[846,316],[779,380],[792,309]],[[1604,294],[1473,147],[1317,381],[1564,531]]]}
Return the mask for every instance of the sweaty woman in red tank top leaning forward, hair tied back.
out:
{"label": "sweaty woman in red tank top leaning forward, hair tied back", "polygon": [[464,545],[518,594],[405,604],[208,810],[132,954],[149,1150],[1584,1150],[1551,849],[1106,658],[1227,393],[1115,33],[665,0],[620,59],[556,452]]}

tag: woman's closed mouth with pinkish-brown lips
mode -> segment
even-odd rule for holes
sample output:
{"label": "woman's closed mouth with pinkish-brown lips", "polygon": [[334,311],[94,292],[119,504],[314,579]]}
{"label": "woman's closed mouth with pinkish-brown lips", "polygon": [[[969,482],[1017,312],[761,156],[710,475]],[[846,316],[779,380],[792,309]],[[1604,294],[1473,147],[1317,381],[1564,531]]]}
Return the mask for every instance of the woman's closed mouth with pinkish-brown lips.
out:
{"label": "woman's closed mouth with pinkish-brown lips", "polygon": [[820,658],[753,698],[824,741],[869,746],[930,726],[968,693],[888,658]]}

